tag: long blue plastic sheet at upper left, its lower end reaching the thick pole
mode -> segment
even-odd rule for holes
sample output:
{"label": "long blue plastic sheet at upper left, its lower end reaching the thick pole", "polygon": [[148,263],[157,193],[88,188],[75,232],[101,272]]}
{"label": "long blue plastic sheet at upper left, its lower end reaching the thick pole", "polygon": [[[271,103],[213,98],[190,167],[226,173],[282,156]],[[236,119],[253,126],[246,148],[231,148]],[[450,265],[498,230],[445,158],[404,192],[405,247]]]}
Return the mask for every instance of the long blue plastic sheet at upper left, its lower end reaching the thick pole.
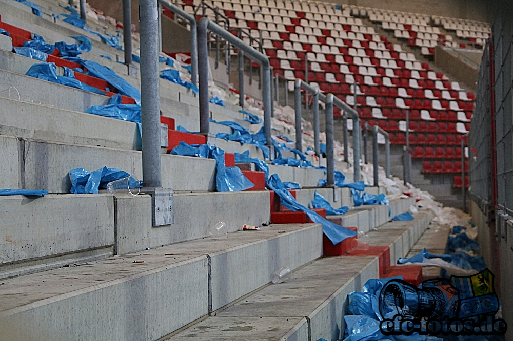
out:
{"label": "long blue plastic sheet at upper left, its lower end reaching the thick pole", "polygon": [[65,57],[87,69],[87,74],[108,81],[119,91],[120,94],[132,97],[135,103],[141,104],[141,92],[134,88],[123,77],[118,76],[112,69],[95,61],[85,60],[80,57]]}

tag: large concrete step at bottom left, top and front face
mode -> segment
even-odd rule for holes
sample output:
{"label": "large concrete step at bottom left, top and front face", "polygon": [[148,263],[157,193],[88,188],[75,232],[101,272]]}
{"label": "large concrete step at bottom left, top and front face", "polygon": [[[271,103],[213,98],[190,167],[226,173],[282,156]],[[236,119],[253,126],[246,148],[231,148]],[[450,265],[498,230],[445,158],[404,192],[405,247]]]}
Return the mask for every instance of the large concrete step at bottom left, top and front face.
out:
{"label": "large concrete step at bottom left, top and front face", "polygon": [[317,224],[268,226],[3,280],[0,330],[156,340],[320,257],[321,240]]}

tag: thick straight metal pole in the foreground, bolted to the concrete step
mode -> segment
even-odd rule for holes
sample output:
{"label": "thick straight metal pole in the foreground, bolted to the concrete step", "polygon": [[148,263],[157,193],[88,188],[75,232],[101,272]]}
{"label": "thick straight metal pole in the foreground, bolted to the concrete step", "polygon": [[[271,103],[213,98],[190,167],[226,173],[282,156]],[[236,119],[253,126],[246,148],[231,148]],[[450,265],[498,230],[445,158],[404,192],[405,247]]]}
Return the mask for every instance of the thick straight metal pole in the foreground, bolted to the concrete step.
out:
{"label": "thick straight metal pole in the foreground, bolted to the concrete step", "polygon": [[143,185],[161,187],[159,9],[157,0],[139,0]]}

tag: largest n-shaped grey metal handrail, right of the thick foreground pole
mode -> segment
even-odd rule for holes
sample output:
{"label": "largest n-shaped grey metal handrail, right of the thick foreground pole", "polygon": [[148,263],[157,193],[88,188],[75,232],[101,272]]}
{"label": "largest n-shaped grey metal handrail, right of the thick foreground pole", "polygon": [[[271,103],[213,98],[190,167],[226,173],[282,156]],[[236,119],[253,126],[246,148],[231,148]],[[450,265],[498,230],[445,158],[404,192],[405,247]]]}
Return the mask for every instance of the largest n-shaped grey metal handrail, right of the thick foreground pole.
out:
{"label": "largest n-shaped grey metal handrail, right of the thick foreground pole", "polygon": [[[231,45],[242,50],[254,61],[260,63],[263,69],[262,75],[262,99],[264,103],[264,133],[266,136],[266,145],[271,148],[271,74],[269,58],[263,53],[255,50],[251,46],[245,44],[244,41],[237,38],[230,32],[221,28],[219,25],[212,23],[208,18],[203,17],[198,22],[198,78],[199,78],[199,89],[200,89],[200,131],[203,134],[208,134],[209,126],[208,123],[210,111],[208,103],[208,49],[207,49],[207,31],[219,35]],[[204,126],[202,127],[202,122]],[[272,154],[272,153],[271,153]]]}

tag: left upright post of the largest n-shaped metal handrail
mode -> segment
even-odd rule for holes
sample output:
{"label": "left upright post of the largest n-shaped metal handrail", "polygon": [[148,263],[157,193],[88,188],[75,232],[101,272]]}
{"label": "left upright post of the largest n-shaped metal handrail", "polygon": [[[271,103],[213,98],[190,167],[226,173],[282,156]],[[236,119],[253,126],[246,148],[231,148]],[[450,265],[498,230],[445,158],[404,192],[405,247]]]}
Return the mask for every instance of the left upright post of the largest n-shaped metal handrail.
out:
{"label": "left upright post of the largest n-shaped metal handrail", "polygon": [[203,17],[198,22],[198,88],[200,90],[200,133],[208,135],[210,131],[210,108],[208,102],[208,19]]}

